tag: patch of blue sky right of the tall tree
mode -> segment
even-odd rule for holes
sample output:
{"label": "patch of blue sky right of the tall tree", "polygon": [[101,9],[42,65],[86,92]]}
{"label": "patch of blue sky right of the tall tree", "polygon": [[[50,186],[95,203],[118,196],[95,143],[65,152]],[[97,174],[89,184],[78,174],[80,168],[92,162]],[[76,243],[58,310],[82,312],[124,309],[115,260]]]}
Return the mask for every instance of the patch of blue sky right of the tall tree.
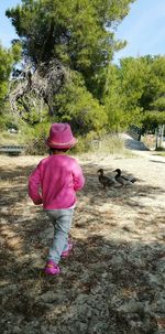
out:
{"label": "patch of blue sky right of the tall tree", "polygon": [[165,0],[136,0],[117,31],[128,45],[114,60],[145,54],[165,55]]}

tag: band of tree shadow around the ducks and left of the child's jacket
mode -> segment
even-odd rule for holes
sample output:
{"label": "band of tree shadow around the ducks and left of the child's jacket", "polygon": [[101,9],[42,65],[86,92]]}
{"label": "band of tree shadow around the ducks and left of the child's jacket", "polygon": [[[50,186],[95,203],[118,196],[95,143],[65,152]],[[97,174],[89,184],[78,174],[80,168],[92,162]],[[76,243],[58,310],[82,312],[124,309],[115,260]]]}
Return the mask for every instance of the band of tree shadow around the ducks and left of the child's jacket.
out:
{"label": "band of tree shadow around the ducks and left of the child's jacket", "polygon": [[[28,198],[28,177],[34,165],[15,168],[12,170],[0,169],[1,180],[4,182],[0,191],[0,204],[6,205],[8,200],[8,206],[13,204],[13,208],[16,203],[26,205]],[[146,180],[138,180],[138,182],[131,186],[123,187],[109,187],[102,188],[102,185],[98,181],[97,174],[98,165],[88,164],[84,166],[86,184],[78,197],[82,201],[84,205],[97,205],[101,207],[106,203],[113,203],[113,205],[134,206],[136,208],[145,206],[143,201],[145,196],[151,200],[156,198],[157,195],[163,194],[163,187],[155,187],[146,183]],[[106,175],[114,176],[113,171],[105,169]],[[133,176],[123,171],[125,176]],[[6,183],[7,182],[7,183]],[[16,200],[16,201],[15,201]],[[92,208],[92,207],[91,207]]]}

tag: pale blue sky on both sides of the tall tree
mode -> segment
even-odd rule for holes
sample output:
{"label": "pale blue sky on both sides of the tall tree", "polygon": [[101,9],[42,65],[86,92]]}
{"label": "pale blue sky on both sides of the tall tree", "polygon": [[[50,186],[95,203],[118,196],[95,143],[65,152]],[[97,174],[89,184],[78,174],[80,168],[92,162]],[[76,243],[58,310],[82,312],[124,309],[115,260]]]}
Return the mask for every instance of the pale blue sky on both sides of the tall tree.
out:
{"label": "pale blue sky on both sides of the tall tree", "polygon": [[[16,37],[6,10],[18,3],[21,0],[0,0],[0,41],[6,47]],[[127,40],[128,45],[114,55],[114,63],[127,56],[165,55],[165,0],[136,0],[118,26],[116,36]]]}

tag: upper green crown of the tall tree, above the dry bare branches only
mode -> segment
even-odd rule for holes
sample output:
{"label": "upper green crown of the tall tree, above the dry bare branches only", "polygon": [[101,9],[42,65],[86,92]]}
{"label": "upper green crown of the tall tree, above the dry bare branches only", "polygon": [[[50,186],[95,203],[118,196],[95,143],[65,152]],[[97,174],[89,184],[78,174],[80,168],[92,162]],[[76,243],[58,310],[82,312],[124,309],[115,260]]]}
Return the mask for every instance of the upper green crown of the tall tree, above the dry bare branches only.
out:
{"label": "upper green crown of the tall tree, above the dry bare branches only", "polygon": [[131,2],[23,0],[22,6],[7,10],[7,17],[35,66],[56,57],[88,82],[122,47],[114,40],[113,26],[128,14]]}

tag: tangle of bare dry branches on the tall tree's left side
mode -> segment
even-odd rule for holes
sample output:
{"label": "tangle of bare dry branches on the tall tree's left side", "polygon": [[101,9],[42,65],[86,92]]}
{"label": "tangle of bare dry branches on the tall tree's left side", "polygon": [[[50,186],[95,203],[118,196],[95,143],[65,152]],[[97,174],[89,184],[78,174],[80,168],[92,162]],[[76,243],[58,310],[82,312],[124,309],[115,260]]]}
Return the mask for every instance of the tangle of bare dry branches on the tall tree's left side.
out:
{"label": "tangle of bare dry branches on the tall tree's left side", "polygon": [[52,115],[53,97],[64,85],[68,73],[66,68],[56,60],[48,64],[42,63],[33,74],[30,69],[25,71],[24,77],[20,78],[16,87],[11,88],[9,93],[12,111],[20,115],[18,104],[21,104],[24,108],[24,106],[26,106],[24,99],[28,98],[30,93],[33,93],[36,98],[44,100],[48,106],[50,114]]}

